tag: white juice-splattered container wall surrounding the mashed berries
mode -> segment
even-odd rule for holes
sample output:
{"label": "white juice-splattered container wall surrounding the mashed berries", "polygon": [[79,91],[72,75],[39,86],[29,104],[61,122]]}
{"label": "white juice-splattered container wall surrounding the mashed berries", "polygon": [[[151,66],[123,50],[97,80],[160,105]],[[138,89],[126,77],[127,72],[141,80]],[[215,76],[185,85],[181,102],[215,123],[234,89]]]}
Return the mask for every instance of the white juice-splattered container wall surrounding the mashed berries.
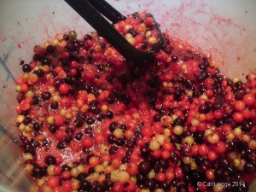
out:
{"label": "white juice-splattered container wall surrounding the mashed berries", "polygon": [[[253,0],[108,0],[124,15],[146,10],[163,31],[181,38],[212,58],[230,77],[245,78],[256,68],[256,1]],[[56,33],[75,30],[82,37],[93,29],[61,0],[10,0],[0,7],[0,191],[24,191],[29,180],[19,168],[15,131],[15,78],[20,60]],[[19,174],[18,174],[19,173]],[[22,173],[22,174],[21,174]],[[251,189],[253,191],[253,188]]]}

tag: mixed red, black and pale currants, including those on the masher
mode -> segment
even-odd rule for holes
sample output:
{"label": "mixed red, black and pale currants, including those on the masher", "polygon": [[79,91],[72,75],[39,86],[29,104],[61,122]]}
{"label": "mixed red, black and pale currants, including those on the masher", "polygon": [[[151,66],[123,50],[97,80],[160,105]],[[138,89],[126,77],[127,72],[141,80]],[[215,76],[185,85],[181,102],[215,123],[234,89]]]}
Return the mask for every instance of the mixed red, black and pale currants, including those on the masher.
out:
{"label": "mixed red, black and pale currants, including those on the masher", "polygon": [[[159,41],[144,12],[114,27],[137,49]],[[144,66],[131,66],[96,32],[78,39],[74,31],[20,63],[16,125],[38,191],[248,190],[256,73],[229,79],[211,55],[164,35]]]}

